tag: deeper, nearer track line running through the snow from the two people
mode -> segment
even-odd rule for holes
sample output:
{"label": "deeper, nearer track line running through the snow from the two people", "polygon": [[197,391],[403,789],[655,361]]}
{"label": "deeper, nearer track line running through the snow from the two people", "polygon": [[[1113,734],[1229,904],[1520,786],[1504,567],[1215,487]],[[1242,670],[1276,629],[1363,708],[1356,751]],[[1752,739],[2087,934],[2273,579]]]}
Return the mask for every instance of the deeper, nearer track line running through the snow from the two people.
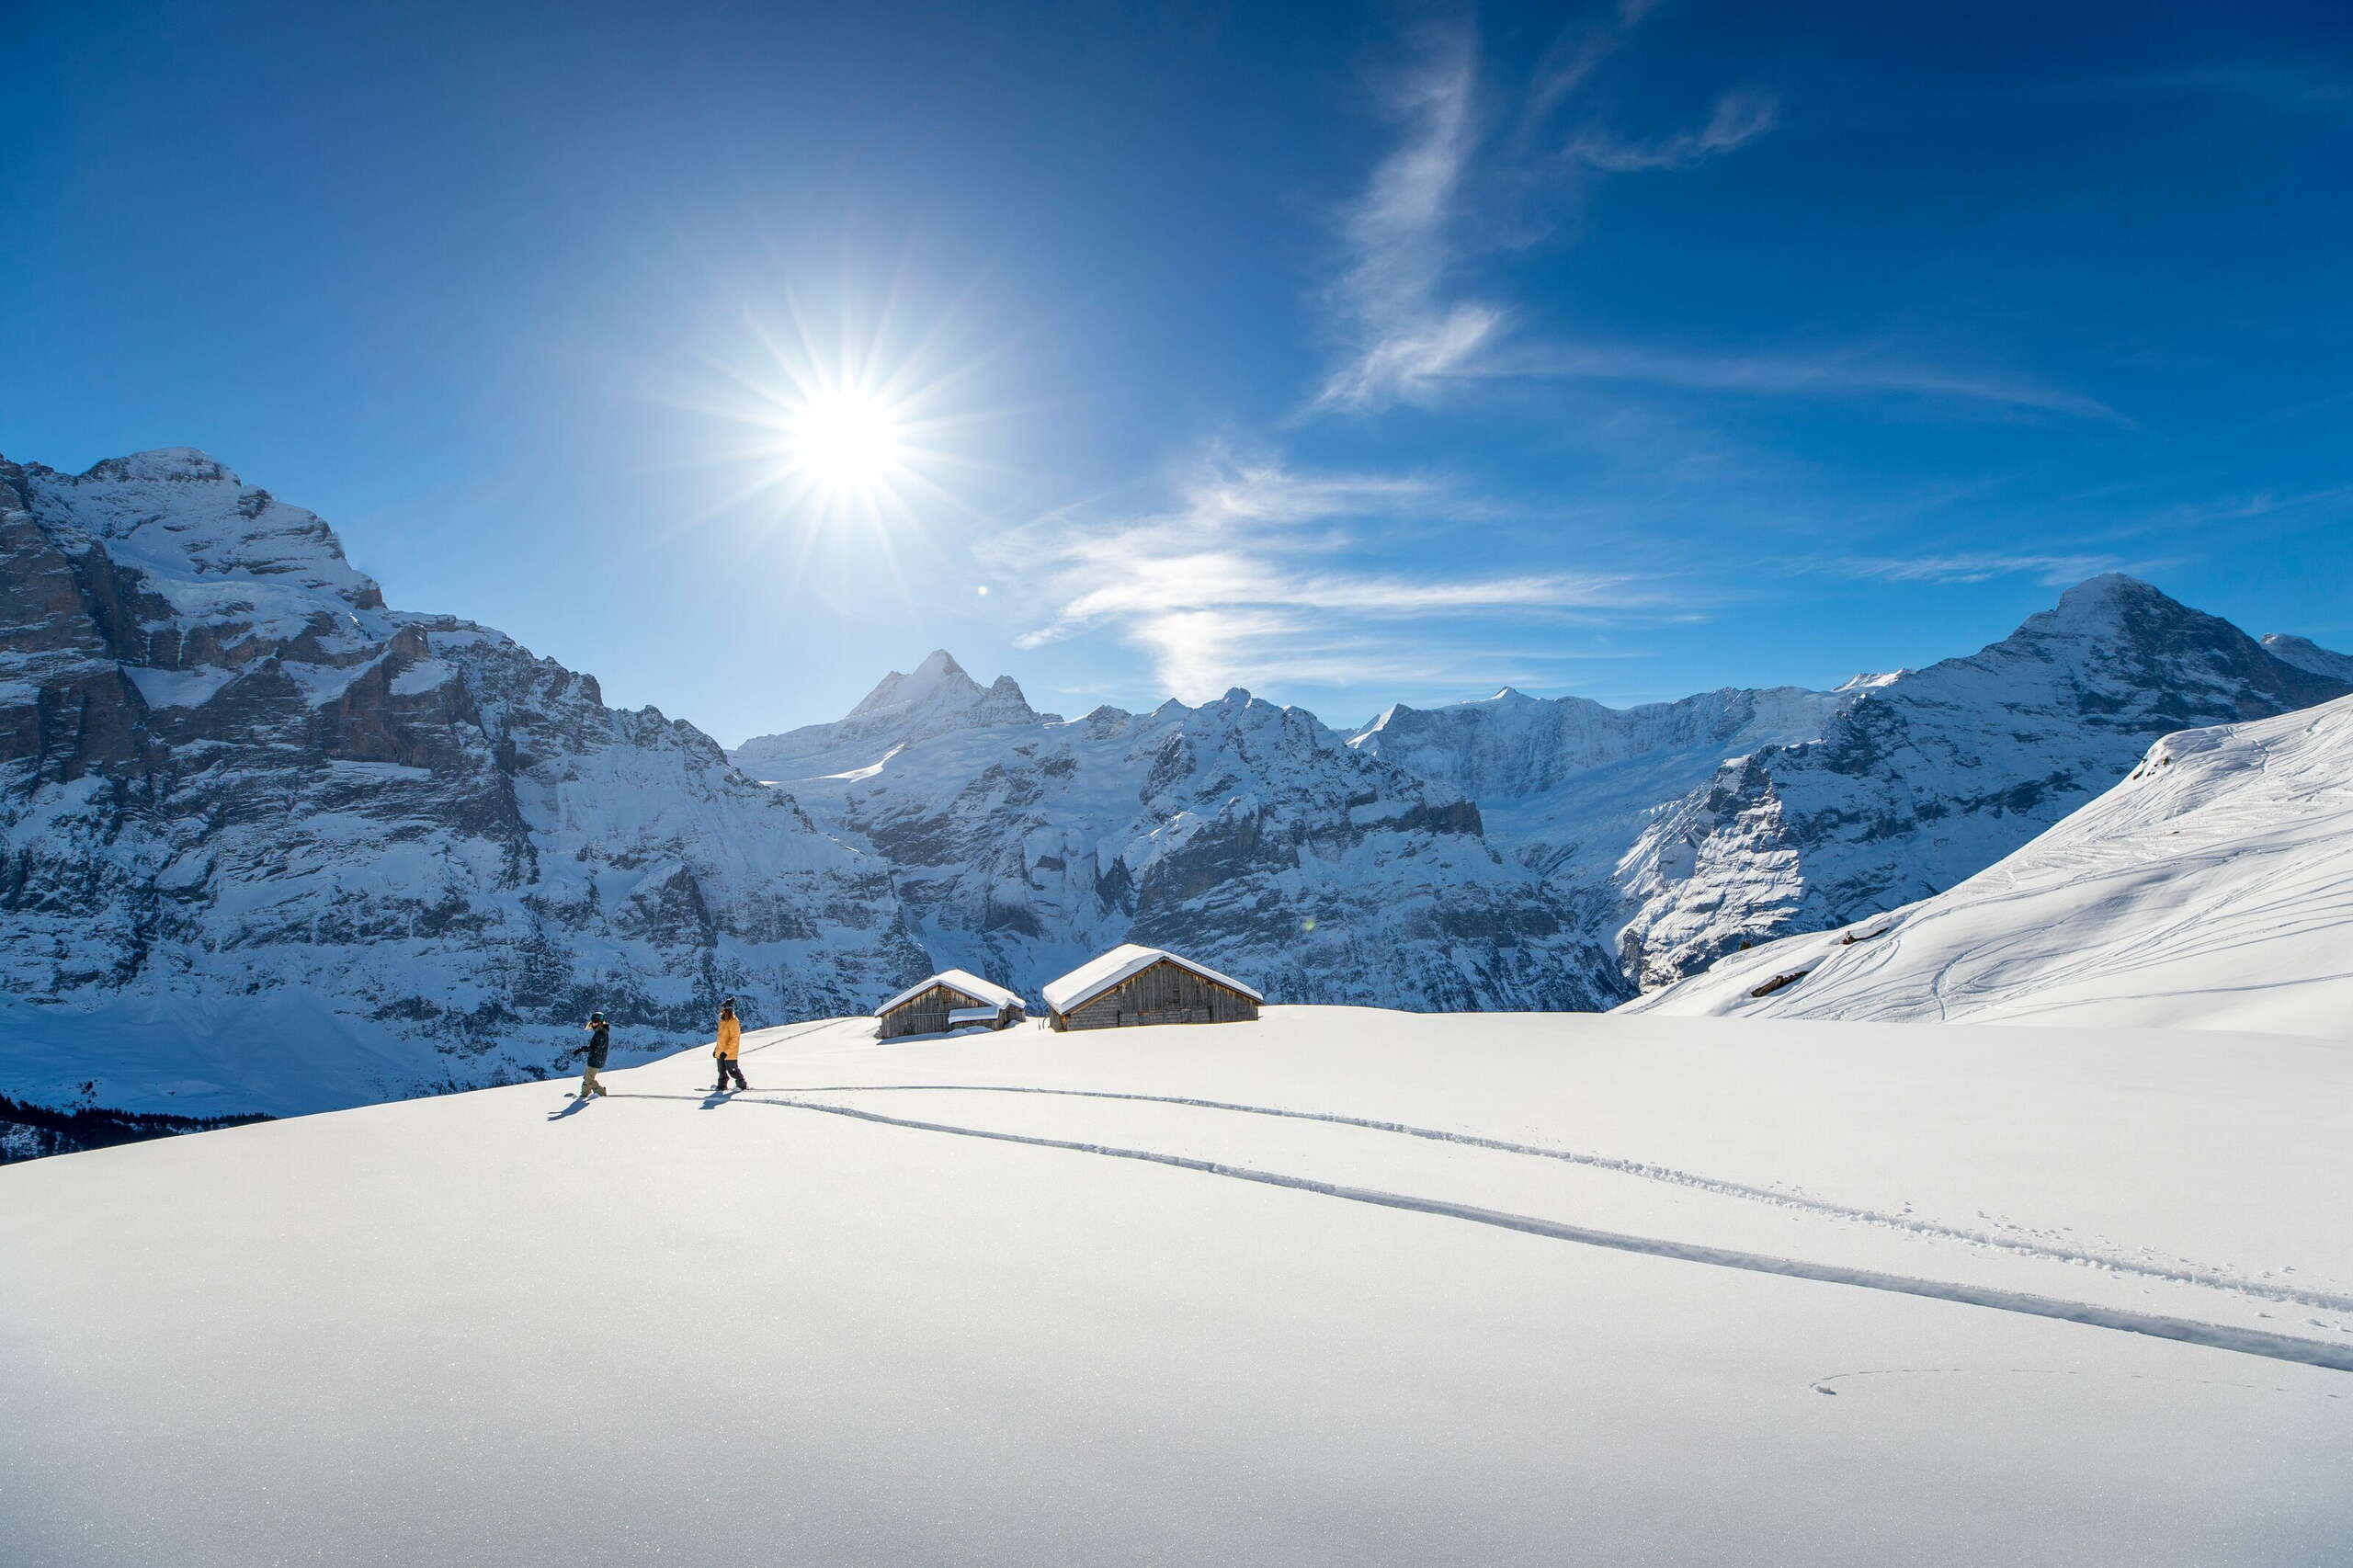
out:
{"label": "deeper, nearer track line running through the snow from the two people", "polygon": [[[911,1088],[911,1085],[899,1085]],[[840,1092],[840,1090],[835,1090]],[[631,1095],[633,1099],[692,1099],[696,1095]],[[741,1099],[736,1104],[744,1104]],[[1186,1154],[1162,1154],[1158,1149],[1120,1149],[1115,1144],[1085,1144],[1066,1137],[1038,1137],[1033,1132],[998,1132],[993,1128],[958,1128],[944,1121],[915,1121],[908,1116],[885,1116],[882,1111],[861,1111],[847,1104],[824,1104],[816,1099],[786,1099],[765,1097],[751,1099],[748,1104],[772,1104],[793,1111],[816,1111],[821,1116],[845,1116],[849,1121],[868,1121],[882,1128],[906,1128],[911,1132],[946,1132],[953,1137],[979,1137],[1000,1144],[1024,1144],[1031,1149],[1061,1149],[1068,1154],[1094,1154],[1115,1161],[1141,1161],[1148,1165],[1172,1165],[1176,1170],[1195,1170],[1200,1175],[1226,1177],[1233,1182],[1257,1182],[1261,1187],[1285,1187],[1292,1191],[1308,1191],[1325,1198],[1344,1198],[1348,1203],[1369,1203],[1374,1208],[1395,1208],[1414,1215],[1435,1215],[1440,1220],[1466,1220],[1471,1224],[1489,1224],[1504,1231],[1520,1231],[1525,1236],[1544,1236],[1551,1241],[1574,1241],[1588,1248],[1607,1248],[1612,1253],[1638,1253],[1645,1257],[1668,1257],[1675,1262],[1713,1264],[1718,1269],[1741,1269],[1746,1274],[1779,1274],[1784,1278],[1807,1278],[1824,1285],[1857,1285],[1864,1290],[1882,1290],[1889,1295],[1918,1295],[1937,1302],[1958,1302],[1962,1307],[1991,1307],[1995,1311],[2014,1311],[2035,1318],[2057,1318],[2061,1323],[2082,1323],[2087,1328],[2113,1328],[2129,1335],[2148,1335],[2153,1340],[2174,1340],[2181,1344],[2200,1344],[2207,1349],[2240,1351],[2247,1356],[2266,1356],[2271,1361],[2292,1361],[2299,1366],[2315,1366],[2332,1373],[2353,1373],[2353,1347],[2320,1344],[2315,1340],[2299,1340],[2294,1335],[2273,1335],[2259,1328],[2231,1328],[2224,1323],[2200,1323],[2195,1318],[2169,1318],[2148,1311],[2127,1311],[2120,1307],[2097,1307],[2089,1302],[2066,1302],[2049,1295],[2033,1295],[2026,1290],[1995,1290],[1988,1285],[1967,1285],[1955,1281],[1913,1278],[1906,1274],[1882,1274],[1878,1269],[1849,1269],[1842,1264],[1817,1264],[1800,1257],[1774,1257],[1769,1253],[1739,1253],[1734,1248],[1711,1248],[1687,1241],[1666,1241],[1659,1236],[1628,1236],[1624,1231],[1598,1231],[1584,1224],[1565,1224],[1560,1220],[1539,1220],[1534,1215],[1513,1215],[1499,1208],[1478,1208],[1471,1203],[1449,1203],[1445,1198],[1417,1198],[1400,1191],[1381,1191],[1379,1187],[1348,1187],[1341,1182],[1320,1182],[1315,1177],[1285,1175],[1280,1170],[1257,1170],[1254,1165],[1226,1165],[1221,1161],[1202,1161]]]}

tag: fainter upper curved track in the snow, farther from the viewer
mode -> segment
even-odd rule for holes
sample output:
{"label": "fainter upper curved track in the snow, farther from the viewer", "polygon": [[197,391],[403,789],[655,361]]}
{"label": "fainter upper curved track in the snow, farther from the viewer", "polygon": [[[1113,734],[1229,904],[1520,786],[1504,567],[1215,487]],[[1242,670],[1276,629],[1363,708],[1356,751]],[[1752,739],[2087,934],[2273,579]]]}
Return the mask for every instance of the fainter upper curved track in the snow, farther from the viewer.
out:
{"label": "fainter upper curved track in the snow, farther from the viewer", "polygon": [[1802,1194],[1777,1191],[1772,1187],[1753,1187],[1748,1182],[1729,1182],[1720,1177],[1694,1175],[1689,1170],[1675,1170],[1673,1165],[1652,1165],[1645,1161],[1617,1158],[1609,1154],[1588,1154],[1581,1149],[1551,1149],[1546,1144],[1518,1144],[1501,1137],[1480,1137],[1478,1132],[1447,1132],[1445,1128],[1417,1128],[1402,1121],[1372,1121],[1365,1116],[1341,1116],[1339,1111],[1297,1111],[1268,1104],[1235,1104],[1231,1099],[1193,1099],[1186,1095],[1134,1095],[1120,1090],[1073,1090],[1073,1088],[1035,1088],[1014,1083],[824,1083],[824,1085],[800,1085],[791,1092],[798,1095],[885,1095],[885,1092],[967,1092],[967,1095],[1056,1095],[1068,1099],[1134,1099],[1141,1104],[1181,1104],[1202,1111],[1238,1111],[1245,1116],[1278,1116],[1287,1121],[1322,1121],[1341,1128],[1365,1128],[1367,1132],[1395,1132],[1400,1137],[1424,1137],[1445,1144],[1466,1144],[1471,1149],[1494,1149],[1501,1154],[1527,1154],[1546,1161],[1562,1161],[1569,1165],[1591,1165],[1595,1170],[1612,1170],[1617,1175],[1640,1177],[1645,1182],[1668,1182],[1673,1187],[1689,1187],[1697,1191],[1718,1194],[1725,1198],[1746,1198],[1753,1203],[1772,1203],[1779,1208],[1798,1208],[1833,1220],[1857,1220],[1864,1224],[1882,1224],[1899,1231],[1913,1231],[1915,1236],[1939,1236],[1944,1241],[1965,1241],[1972,1245],[1998,1248],[2002,1253],[2017,1253],[2021,1257],[2045,1257],[2052,1262],[2085,1264],[2094,1269],[2113,1269],[2118,1274],[2132,1274],[2137,1278],[2153,1278],[2169,1285],[2200,1285],[2207,1290],[2235,1290],[2240,1295],[2254,1295],[2266,1302],[2280,1302],[2287,1307],[2313,1307],[2320,1311],[2353,1311],[2353,1297],[2329,1295],[2320,1290],[2294,1290],[2289,1285],[2273,1285],[2254,1278],[2240,1278],[2235,1274],[2198,1269],[2198,1267],[2167,1267],[2151,1264],[2134,1257],[2120,1257],[2113,1253],[2059,1248],[2040,1241],[2021,1241],[2009,1236],[1998,1236],[1993,1231],[1972,1231],[1958,1224],[1937,1224],[1934,1220],[1908,1220],[1904,1215],[1889,1215],[1875,1208],[1859,1208],[1852,1203],[1833,1203],[1828,1198],[1809,1198]]}

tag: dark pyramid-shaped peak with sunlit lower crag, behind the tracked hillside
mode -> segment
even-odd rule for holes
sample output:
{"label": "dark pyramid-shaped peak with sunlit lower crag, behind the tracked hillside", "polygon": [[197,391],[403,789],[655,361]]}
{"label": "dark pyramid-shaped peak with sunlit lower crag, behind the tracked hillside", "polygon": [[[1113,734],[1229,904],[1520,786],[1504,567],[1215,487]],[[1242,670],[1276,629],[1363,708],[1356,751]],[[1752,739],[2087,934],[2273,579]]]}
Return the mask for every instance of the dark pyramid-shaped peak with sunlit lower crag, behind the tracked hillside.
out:
{"label": "dark pyramid-shaped peak with sunlit lower crag, behind the tracked hillside", "polygon": [[1857,921],[1981,871],[2172,730],[2289,713],[2344,680],[2132,577],[2094,577],[1967,659],[1852,692],[1819,739],[1727,760],[1619,862],[1642,986],[1741,942]]}

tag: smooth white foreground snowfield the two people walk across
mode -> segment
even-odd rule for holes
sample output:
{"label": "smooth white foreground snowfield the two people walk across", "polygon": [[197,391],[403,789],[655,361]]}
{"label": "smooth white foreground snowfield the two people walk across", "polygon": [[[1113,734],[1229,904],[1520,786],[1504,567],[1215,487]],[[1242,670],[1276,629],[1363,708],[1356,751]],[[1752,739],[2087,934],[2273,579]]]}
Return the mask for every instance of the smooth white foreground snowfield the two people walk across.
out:
{"label": "smooth white foreground snowfield the two people walk across", "polygon": [[2353,1535],[2339,1048],[866,1029],[748,1036],[729,1099],[687,1052],[593,1104],[0,1170],[0,1561],[2318,1568]]}

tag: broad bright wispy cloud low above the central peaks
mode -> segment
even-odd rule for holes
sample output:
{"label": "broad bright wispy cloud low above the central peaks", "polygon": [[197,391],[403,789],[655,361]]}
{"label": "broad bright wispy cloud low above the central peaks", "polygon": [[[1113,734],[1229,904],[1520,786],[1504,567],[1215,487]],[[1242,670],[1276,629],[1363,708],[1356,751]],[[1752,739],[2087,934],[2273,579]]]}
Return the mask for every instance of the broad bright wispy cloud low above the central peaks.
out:
{"label": "broad bright wispy cloud low above the central peaks", "polygon": [[[1358,565],[1367,530],[1461,523],[1482,511],[1426,476],[1304,473],[1212,450],[1179,478],[1165,511],[1052,516],[1002,537],[993,553],[1026,563],[1049,605],[1049,619],[1016,638],[1019,647],[1111,626],[1186,702],[1245,683],[1445,683],[1454,662],[1445,638],[1405,638],[1407,624],[1602,624],[1666,610],[1654,589],[1619,574],[1440,577]],[[1520,652],[1513,664],[1527,671],[1577,657]],[[1466,664],[1464,678],[1492,678],[1497,662],[1480,655],[1475,671]]]}

